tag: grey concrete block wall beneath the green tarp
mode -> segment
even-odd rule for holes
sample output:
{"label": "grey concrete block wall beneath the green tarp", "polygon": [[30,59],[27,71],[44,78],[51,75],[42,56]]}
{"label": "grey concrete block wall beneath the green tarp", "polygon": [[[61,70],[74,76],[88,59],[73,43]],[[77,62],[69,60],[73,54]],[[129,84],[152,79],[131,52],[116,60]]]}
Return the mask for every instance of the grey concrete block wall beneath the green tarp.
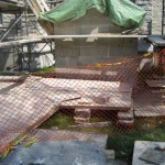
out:
{"label": "grey concrete block wall beneath the green tarp", "polygon": [[[109,18],[96,9],[87,15],[72,22],[54,26],[56,35],[121,33],[124,29],[110,23]],[[105,33],[105,34],[103,34]],[[138,54],[138,38],[70,38],[56,40],[56,66],[84,66],[98,62],[108,62],[114,56]]]}

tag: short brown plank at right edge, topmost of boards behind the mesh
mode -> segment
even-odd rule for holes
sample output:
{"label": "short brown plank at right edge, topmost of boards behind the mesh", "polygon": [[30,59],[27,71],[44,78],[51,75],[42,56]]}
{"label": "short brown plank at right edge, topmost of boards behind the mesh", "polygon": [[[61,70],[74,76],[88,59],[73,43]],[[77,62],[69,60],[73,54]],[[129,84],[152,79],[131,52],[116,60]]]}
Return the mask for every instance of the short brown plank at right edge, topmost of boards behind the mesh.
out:
{"label": "short brown plank at right edge, topmost of boards behind the mesh", "polygon": [[164,79],[146,80],[146,84],[151,88],[165,88],[165,80]]}

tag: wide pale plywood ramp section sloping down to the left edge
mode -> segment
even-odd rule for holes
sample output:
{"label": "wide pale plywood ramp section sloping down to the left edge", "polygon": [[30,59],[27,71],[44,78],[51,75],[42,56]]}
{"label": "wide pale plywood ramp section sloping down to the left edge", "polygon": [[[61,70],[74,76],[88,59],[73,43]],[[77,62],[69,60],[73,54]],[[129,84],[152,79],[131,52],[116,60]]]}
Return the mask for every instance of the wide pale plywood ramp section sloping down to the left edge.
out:
{"label": "wide pale plywood ramp section sloping down to the left edge", "polygon": [[[25,88],[26,85],[33,84],[34,80],[40,79],[29,78],[25,84],[14,86],[14,88],[10,88],[10,86],[16,84],[0,82],[2,89],[6,87],[10,88],[8,95],[2,91],[0,92],[0,136],[3,136],[3,139],[0,139],[1,144],[6,144],[1,140],[8,140],[8,142],[14,141],[22,134],[38,127],[58,110],[63,98],[54,102],[47,99],[48,96],[55,96],[54,91],[41,94],[40,91],[34,91],[32,88]],[[19,134],[16,134],[18,132]],[[11,139],[9,134],[16,134],[16,136],[13,140],[13,136]]]}

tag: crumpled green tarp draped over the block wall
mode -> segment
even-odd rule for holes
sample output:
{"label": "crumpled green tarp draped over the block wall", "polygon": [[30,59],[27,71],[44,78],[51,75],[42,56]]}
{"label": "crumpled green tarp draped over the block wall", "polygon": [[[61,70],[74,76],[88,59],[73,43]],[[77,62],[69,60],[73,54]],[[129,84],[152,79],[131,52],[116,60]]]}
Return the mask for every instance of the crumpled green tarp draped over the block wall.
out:
{"label": "crumpled green tarp draped over the block wall", "polygon": [[146,13],[130,0],[66,0],[50,12],[42,12],[40,19],[53,23],[73,21],[84,16],[90,8],[96,8],[112,23],[125,29],[141,26]]}

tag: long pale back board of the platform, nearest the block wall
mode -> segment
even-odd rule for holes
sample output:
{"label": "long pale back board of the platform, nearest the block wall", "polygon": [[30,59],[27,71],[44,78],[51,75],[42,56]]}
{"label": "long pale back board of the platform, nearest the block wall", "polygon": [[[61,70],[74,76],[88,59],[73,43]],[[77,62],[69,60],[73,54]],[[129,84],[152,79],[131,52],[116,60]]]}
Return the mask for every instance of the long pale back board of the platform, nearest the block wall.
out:
{"label": "long pale back board of the platform, nearest the block wall", "polygon": [[54,90],[68,90],[68,91],[99,91],[99,92],[132,92],[132,85],[129,82],[120,81],[97,81],[97,80],[80,80],[80,79],[61,79],[61,78],[45,78],[41,81],[45,86],[54,88]]}

